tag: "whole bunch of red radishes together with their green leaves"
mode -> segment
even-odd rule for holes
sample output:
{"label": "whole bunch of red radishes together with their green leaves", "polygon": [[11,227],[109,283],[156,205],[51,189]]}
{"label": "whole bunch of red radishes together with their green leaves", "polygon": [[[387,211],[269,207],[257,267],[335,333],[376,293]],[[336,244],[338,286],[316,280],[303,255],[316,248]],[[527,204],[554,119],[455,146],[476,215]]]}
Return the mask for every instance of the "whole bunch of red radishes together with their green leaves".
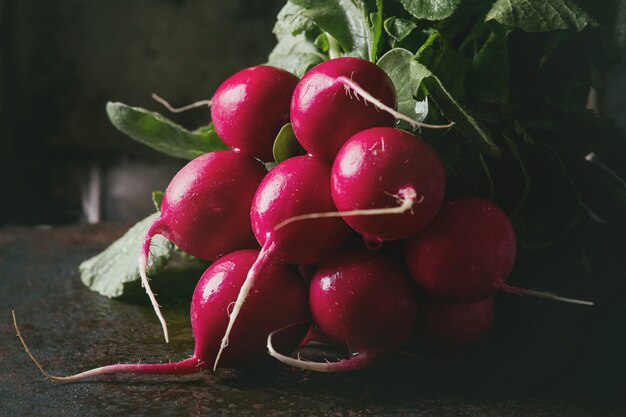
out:
{"label": "whole bunch of red radishes together with their green leaves", "polygon": [[[589,275],[593,265],[618,269],[577,239],[623,221],[612,205],[623,197],[622,173],[598,156],[614,162],[612,147],[623,149],[617,140],[577,136],[573,126],[591,131],[584,123],[592,116],[570,106],[586,99],[591,80],[568,78],[565,88],[544,72],[557,65],[549,51],[561,37],[534,49],[544,51],[538,58],[516,46],[528,34],[507,20],[520,16],[515,10],[485,14],[488,6],[452,2],[481,16],[452,31],[458,22],[448,19],[465,9],[450,6],[435,18],[397,6],[399,14],[383,21],[384,2],[371,10],[363,3],[369,13],[352,16],[363,24],[338,29],[314,3],[285,6],[267,64],[236,72],[209,100],[183,108],[208,104],[211,125],[187,131],[143,109],[111,107],[141,117],[137,126],[174,131],[184,145],[170,153],[191,159],[141,236],[137,278],[166,340],[148,282],[158,279],[155,236],[214,263],[191,301],[192,358],[106,366],[66,380],[183,374],[270,357],[312,371],[356,371],[407,342],[456,354],[488,344],[498,304],[513,294],[593,305],[561,295],[585,294],[578,286],[587,281],[551,280],[528,267],[560,243],[571,243]],[[545,96],[535,103],[526,89]],[[167,148],[163,138],[128,130]],[[595,205],[596,196],[610,208]],[[301,357],[297,348],[312,340],[343,358]]]}

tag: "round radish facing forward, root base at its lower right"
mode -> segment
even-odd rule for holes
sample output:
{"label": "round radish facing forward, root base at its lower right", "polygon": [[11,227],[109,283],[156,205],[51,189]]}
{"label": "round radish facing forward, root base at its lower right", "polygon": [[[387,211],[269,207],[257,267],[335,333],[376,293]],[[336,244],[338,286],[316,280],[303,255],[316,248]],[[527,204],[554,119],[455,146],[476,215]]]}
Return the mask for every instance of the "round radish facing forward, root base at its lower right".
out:
{"label": "round radish facing forward, root base at its lower right", "polygon": [[446,178],[435,151],[404,130],[378,127],[352,136],[333,163],[331,190],[341,211],[397,207],[413,195],[402,214],[350,216],[344,220],[366,241],[381,243],[415,235],[437,214]]}

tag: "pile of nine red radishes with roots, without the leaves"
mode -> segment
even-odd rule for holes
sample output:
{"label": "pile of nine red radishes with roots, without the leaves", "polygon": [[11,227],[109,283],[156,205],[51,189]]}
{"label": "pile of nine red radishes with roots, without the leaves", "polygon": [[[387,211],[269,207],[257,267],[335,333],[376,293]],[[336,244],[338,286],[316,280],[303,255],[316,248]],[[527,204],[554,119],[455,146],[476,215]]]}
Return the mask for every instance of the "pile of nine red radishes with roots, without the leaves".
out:
{"label": "pile of nine red radishes with roots, without the leaves", "polygon": [[[444,201],[439,157],[418,136],[393,127],[407,120],[395,108],[389,77],[358,58],[326,61],[301,80],[270,66],[227,79],[212,98],[211,116],[232,150],[202,155],[176,174],[140,256],[166,339],[145,272],[151,238],[161,234],[214,261],[191,303],[193,357],[61,379],[188,374],[218,361],[241,367],[268,357],[267,350],[301,368],[355,370],[414,331],[445,349],[480,340],[498,290],[558,298],[505,283],[516,254],[507,216],[481,198]],[[308,154],[267,172],[262,162],[289,122]],[[387,241],[400,243],[390,249]],[[288,356],[307,329],[347,359]]]}

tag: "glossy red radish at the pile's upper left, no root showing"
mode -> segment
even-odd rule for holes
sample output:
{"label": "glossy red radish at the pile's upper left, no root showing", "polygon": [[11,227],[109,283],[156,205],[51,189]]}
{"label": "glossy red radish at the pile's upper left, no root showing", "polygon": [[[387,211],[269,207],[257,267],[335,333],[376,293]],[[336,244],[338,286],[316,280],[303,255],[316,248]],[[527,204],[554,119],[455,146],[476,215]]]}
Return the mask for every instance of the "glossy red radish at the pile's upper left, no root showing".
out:
{"label": "glossy red radish at the pile's upper left, no root showing", "polygon": [[224,143],[262,161],[273,161],[274,139],[289,123],[298,78],[280,68],[259,65],[226,79],[211,100],[213,126]]}

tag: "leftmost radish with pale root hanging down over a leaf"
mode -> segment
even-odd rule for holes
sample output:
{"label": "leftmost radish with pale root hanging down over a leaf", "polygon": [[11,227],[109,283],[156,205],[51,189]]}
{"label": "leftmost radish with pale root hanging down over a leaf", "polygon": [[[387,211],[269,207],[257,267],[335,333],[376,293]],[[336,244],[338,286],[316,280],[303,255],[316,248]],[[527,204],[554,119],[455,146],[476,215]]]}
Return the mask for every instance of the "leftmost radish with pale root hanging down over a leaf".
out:
{"label": "leftmost radish with pale root hanging down over a leaf", "polygon": [[139,256],[142,284],[161,321],[165,340],[167,325],[146,276],[152,237],[163,235],[190,255],[206,260],[256,247],[250,205],[266,173],[263,165],[248,155],[217,151],[190,161],[167,186],[161,214],[148,229]]}

